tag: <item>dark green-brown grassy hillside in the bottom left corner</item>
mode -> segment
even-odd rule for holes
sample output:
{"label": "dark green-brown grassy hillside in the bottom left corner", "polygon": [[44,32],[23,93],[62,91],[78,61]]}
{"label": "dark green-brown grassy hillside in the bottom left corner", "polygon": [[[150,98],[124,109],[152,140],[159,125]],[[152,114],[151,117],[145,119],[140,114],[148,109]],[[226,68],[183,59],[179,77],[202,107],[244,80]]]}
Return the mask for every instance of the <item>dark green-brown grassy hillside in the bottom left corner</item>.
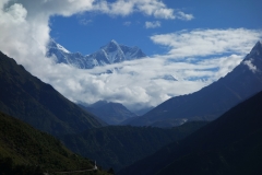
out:
{"label": "dark green-brown grassy hillside in the bottom left corner", "polygon": [[[93,167],[94,163],[67,150],[52,136],[0,112],[1,175],[43,175]],[[98,170],[96,174],[106,173]]]}

